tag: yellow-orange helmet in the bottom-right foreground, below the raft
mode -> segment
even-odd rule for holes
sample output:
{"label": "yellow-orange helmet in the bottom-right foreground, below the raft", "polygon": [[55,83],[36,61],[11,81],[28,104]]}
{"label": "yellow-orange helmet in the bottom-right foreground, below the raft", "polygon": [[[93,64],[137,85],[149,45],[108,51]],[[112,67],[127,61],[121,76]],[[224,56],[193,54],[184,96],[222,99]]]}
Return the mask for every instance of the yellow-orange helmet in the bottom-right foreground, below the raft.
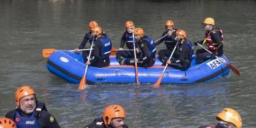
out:
{"label": "yellow-orange helmet in the bottom-right foreground, below the raft", "polygon": [[232,108],[224,108],[220,113],[217,114],[216,119],[221,121],[230,122],[237,128],[242,127],[242,118],[236,110]]}

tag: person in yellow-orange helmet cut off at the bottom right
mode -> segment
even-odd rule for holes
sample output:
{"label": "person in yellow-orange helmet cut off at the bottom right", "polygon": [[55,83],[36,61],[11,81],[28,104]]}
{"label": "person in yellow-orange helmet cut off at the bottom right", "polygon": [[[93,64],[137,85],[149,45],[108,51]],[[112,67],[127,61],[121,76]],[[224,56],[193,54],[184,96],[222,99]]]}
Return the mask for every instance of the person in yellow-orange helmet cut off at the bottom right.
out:
{"label": "person in yellow-orange helmet cut off at the bottom right", "polygon": [[216,126],[200,126],[198,128],[241,128],[242,118],[236,110],[232,108],[224,108],[217,114],[216,120],[218,123]]}

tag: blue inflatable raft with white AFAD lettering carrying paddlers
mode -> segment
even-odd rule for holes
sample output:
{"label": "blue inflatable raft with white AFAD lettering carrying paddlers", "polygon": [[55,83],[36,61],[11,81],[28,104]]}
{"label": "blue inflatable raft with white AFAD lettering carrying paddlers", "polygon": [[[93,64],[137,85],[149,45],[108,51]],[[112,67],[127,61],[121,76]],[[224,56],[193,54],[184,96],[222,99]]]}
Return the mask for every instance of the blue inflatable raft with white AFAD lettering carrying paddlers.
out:
{"label": "blue inflatable raft with white AFAD lettering carrying paddlers", "polygon": [[[186,71],[168,67],[164,72],[161,83],[167,84],[192,84],[207,82],[209,80],[219,79],[229,74],[230,69],[226,64],[222,64],[220,60],[213,59],[203,62],[202,64],[195,64],[194,57],[190,68]],[[222,61],[229,64],[225,56],[221,56]],[[108,67],[97,68],[88,66],[87,83],[135,83],[135,67],[134,66],[120,66],[113,56],[110,58],[111,64]],[[48,70],[67,80],[71,83],[80,83],[85,72],[85,64],[83,64],[82,55],[70,51],[56,51],[48,58]],[[155,83],[164,66],[162,62],[156,58],[153,67],[138,67],[139,82],[140,83]]]}

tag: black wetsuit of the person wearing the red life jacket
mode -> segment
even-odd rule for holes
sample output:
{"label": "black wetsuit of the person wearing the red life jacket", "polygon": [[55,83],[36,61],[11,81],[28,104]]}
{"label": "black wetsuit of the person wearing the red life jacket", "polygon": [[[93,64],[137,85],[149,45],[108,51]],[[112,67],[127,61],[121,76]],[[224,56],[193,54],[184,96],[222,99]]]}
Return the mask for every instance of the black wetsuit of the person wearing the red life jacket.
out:
{"label": "black wetsuit of the person wearing the red life jacket", "polygon": [[[205,35],[210,33],[211,40],[213,42],[218,43],[216,51],[213,51],[213,54],[208,53],[205,49],[198,49],[196,54],[197,54],[197,62],[196,64],[200,64],[204,61],[207,61],[208,59],[213,58],[215,55],[216,56],[222,56],[223,55],[223,41],[221,40],[221,35],[217,31],[216,28],[213,28],[210,32],[206,32]],[[204,41],[204,40],[203,40]],[[203,41],[198,41],[197,43],[202,44]]]}

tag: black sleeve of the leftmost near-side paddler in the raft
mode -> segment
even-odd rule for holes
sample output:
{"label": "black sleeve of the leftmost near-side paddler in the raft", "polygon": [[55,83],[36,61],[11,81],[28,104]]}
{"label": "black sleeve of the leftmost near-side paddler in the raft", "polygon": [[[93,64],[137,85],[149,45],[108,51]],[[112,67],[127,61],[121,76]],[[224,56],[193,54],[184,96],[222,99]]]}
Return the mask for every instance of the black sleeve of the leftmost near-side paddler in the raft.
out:
{"label": "black sleeve of the leftmost near-side paddler in the raft", "polygon": [[93,46],[93,56],[91,57],[91,60],[90,60],[91,63],[95,63],[98,61],[98,59],[100,58],[100,51],[102,48],[100,40],[96,40],[93,45],[94,45]]}

